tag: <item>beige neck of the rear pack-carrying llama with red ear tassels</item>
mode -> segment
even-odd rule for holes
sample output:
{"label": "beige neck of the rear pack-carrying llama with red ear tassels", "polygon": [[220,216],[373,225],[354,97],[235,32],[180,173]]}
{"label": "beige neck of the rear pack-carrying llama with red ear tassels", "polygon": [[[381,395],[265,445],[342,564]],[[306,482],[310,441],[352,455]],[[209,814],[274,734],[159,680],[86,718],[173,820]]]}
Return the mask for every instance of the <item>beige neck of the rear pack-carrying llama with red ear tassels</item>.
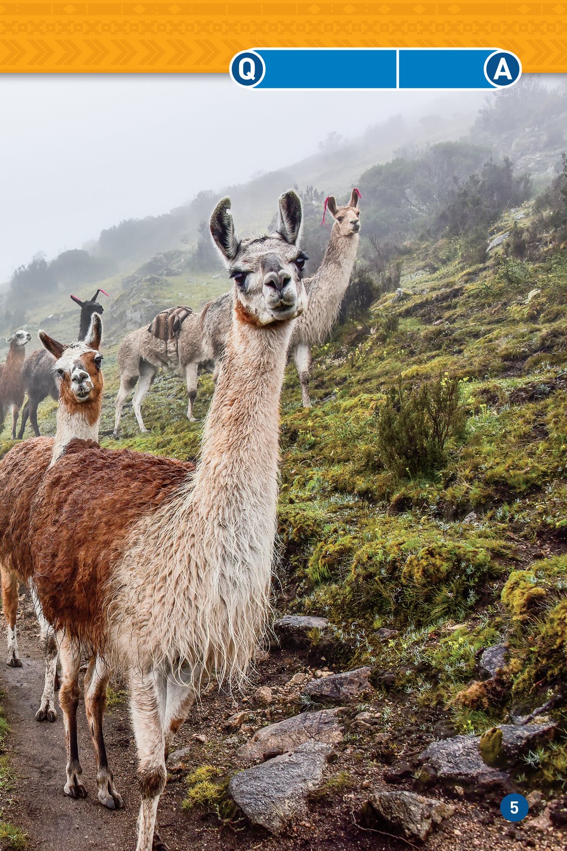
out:
{"label": "beige neck of the rear pack-carrying llama with red ear tassels", "polygon": [[358,233],[343,237],[337,224],[332,227],[319,269],[305,281],[309,302],[307,310],[298,319],[292,346],[299,342],[310,346],[325,340],[349,286],[359,239]]}

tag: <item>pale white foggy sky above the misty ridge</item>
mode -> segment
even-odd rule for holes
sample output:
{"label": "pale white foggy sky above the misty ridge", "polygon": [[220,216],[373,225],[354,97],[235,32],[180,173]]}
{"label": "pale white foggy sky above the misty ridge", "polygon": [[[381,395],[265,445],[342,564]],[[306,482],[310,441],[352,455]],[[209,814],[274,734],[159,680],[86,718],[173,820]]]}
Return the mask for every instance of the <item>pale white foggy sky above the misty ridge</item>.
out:
{"label": "pale white foggy sky above the misty ridge", "polygon": [[[274,93],[228,75],[2,75],[0,282],[38,251],[50,260],[122,219],[303,159],[333,130],[353,138],[400,112],[439,112],[443,97]],[[478,105],[479,93],[451,99],[452,111]]]}

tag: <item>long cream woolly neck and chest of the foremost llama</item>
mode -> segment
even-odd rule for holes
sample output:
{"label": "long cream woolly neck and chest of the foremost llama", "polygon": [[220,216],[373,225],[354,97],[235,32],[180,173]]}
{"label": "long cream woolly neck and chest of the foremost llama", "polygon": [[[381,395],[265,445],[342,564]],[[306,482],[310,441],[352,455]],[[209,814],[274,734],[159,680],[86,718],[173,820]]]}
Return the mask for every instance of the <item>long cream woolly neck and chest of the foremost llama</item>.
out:
{"label": "long cream woolly neck and chest of the foremost llama", "polygon": [[269,614],[280,394],[292,324],[257,328],[233,318],[201,460],[162,514],[156,545],[167,585],[151,603],[150,633],[160,632],[152,652],[170,663],[188,661],[194,676],[201,668],[218,677],[245,673]]}

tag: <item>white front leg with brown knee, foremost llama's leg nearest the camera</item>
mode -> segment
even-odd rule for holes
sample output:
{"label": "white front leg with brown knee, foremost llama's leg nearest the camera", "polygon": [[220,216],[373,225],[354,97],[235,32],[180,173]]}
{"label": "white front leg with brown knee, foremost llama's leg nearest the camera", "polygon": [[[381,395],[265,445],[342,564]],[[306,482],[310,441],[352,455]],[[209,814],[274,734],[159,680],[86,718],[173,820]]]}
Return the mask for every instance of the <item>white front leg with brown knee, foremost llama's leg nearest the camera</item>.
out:
{"label": "white front leg with brown knee, foremost llama's leg nearest the camera", "polygon": [[167,679],[153,671],[133,672],[130,709],[136,745],[142,802],[136,851],[168,851],[156,832],[157,805],[166,785],[165,706]]}

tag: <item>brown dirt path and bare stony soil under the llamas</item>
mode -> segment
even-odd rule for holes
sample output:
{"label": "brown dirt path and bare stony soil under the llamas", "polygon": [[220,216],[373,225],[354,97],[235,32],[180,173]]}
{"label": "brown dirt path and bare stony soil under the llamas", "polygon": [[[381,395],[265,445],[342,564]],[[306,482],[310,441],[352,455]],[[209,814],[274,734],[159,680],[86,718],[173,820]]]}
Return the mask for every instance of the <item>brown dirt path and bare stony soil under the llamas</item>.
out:
{"label": "brown dirt path and bare stony soil under the llamas", "polygon": [[[20,612],[19,642],[24,667],[13,670],[0,666],[0,688],[6,694],[3,704],[12,728],[9,755],[17,774],[13,801],[8,807],[3,803],[4,817],[28,833],[31,851],[84,851],[85,848],[133,851],[139,793],[127,707],[119,702],[105,717],[109,760],[125,808],[111,812],[97,801],[94,754],[82,705],[79,749],[83,782],[89,797],[82,801],[65,797],[63,723],[60,716],[53,724],[35,721],[43,689],[43,658],[31,605],[23,601]],[[305,662],[297,653],[270,654],[258,671],[258,683],[278,688],[287,683],[293,673],[305,669]],[[252,691],[256,685],[252,686]],[[242,696],[238,704],[226,695],[213,694],[192,712],[175,742],[176,747],[190,748],[188,767],[212,764],[224,776],[243,767],[235,759],[235,750],[252,734],[252,728],[235,736],[227,732],[226,719],[237,710],[251,710],[251,694]],[[254,728],[263,726],[269,718],[278,720],[277,712],[276,706],[265,710],[262,718],[258,716]],[[424,736],[413,731],[416,732],[411,746],[421,748]],[[405,745],[412,735],[400,726],[398,758],[404,758]],[[205,808],[196,808],[190,813],[184,811],[181,802],[186,788],[185,774],[173,774],[160,801],[160,832],[172,851],[189,848],[191,851],[406,851],[407,843],[363,831],[354,824],[360,817],[369,788],[392,788],[384,784],[384,768],[370,742],[365,745],[358,741],[356,746],[339,749],[337,761],[329,768],[329,773],[348,775],[349,785],[334,790],[329,788],[324,797],[310,804],[309,815],[290,824],[280,837],[271,837],[245,820],[223,825]],[[493,803],[483,805],[463,800],[457,803],[456,814],[435,831],[426,847],[428,851],[515,851],[519,848],[563,851],[567,847],[564,831],[537,833],[530,830],[527,821],[517,827],[507,825]]]}

